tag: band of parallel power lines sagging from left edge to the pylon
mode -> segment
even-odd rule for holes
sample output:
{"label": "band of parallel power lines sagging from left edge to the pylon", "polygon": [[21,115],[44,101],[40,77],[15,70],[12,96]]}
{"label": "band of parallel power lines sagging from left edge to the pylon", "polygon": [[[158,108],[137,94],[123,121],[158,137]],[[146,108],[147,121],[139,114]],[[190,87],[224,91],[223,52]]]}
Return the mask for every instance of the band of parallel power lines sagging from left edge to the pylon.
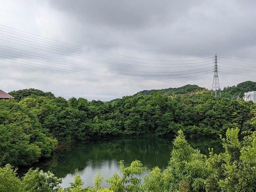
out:
{"label": "band of parallel power lines sagging from left edge to the pylon", "polygon": [[[9,45],[0,44],[0,58],[17,64],[68,73],[126,79],[175,79],[201,76],[211,72],[211,58],[198,60],[136,58],[92,50],[0,26],[0,40]],[[179,68],[188,70],[179,70]]]}

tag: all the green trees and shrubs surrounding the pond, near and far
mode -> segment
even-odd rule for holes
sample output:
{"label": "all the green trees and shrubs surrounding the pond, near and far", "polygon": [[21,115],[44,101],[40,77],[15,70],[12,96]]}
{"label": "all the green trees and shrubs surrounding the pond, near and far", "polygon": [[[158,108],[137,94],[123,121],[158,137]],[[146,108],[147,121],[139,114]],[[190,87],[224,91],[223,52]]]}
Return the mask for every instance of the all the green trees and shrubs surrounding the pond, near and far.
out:
{"label": "all the green trees and shrubs surrounding the pond, near and far", "polygon": [[[0,100],[0,191],[255,191],[256,104],[235,97],[255,88],[255,82],[243,82],[225,87],[222,97],[215,99],[205,88],[185,85],[146,90],[108,103],[66,100],[32,88],[9,92],[15,99]],[[238,140],[242,132],[248,136]],[[138,160],[130,167],[120,161],[123,176],[108,178],[108,188],[101,188],[100,172],[94,187],[84,188],[76,170],[74,182],[62,189],[61,179],[52,172],[30,169],[19,178],[12,167],[49,157],[60,141],[175,134],[169,166],[155,167],[143,182],[136,175],[147,168]],[[219,134],[226,134],[225,152],[217,155],[211,149],[209,158],[185,140],[185,135]]]}

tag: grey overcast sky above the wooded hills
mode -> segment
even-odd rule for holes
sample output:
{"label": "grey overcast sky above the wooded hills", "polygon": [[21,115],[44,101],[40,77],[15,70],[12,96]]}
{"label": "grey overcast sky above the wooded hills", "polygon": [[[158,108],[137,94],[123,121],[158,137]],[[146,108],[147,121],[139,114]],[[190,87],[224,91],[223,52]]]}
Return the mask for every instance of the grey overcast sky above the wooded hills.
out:
{"label": "grey overcast sky above the wooded hills", "polygon": [[0,89],[109,101],[256,81],[256,1],[0,0]]}

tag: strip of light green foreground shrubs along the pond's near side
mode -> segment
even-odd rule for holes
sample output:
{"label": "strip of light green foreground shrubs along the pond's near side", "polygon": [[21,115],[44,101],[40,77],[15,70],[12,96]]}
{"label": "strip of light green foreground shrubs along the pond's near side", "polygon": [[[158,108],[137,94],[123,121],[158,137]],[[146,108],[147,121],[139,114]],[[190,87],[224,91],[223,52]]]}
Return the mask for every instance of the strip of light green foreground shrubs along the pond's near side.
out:
{"label": "strip of light green foreground shrubs along the pond's near side", "polygon": [[[255,112],[253,112],[255,113]],[[255,123],[253,121],[253,123]],[[224,153],[214,154],[209,149],[207,158],[200,150],[193,149],[180,130],[173,141],[168,166],[161,170],[154,167],[143,179],[137,176],[147,167],[139,160],[130,166],[119,162],[122,175],[117,172],[106,179],[107,188],[102,188],[104,176],[93,178],[94,186],[83,186],[84,182],[78,170],[70,187],[61,188],[61,179],[52,172],[30,169],[22,178],[17,177],[16,169],[10,164],[0,168],[1,192],[254,192],[256,190],[256,131],[244,132],[243,140],[238,139],[238,128],[227,129],[222,139]],[[142,182],[143,181],[143,182]]]}

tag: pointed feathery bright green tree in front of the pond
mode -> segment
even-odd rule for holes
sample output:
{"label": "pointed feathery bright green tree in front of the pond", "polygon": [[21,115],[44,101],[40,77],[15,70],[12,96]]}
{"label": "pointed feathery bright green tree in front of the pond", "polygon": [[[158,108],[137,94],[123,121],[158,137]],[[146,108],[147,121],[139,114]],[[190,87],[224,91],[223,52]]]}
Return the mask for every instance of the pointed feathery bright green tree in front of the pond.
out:
{"label": "pointed feathery bright green tree in front of the pond", "polygon": [[209,175],[209,170],[205,167],[206,156],[187,143],[182,131],[178,131],[173,145],[169,169],[174,186],[184,180],[189,183],[191,191],[203,191],[205,188],[204,179]]}

